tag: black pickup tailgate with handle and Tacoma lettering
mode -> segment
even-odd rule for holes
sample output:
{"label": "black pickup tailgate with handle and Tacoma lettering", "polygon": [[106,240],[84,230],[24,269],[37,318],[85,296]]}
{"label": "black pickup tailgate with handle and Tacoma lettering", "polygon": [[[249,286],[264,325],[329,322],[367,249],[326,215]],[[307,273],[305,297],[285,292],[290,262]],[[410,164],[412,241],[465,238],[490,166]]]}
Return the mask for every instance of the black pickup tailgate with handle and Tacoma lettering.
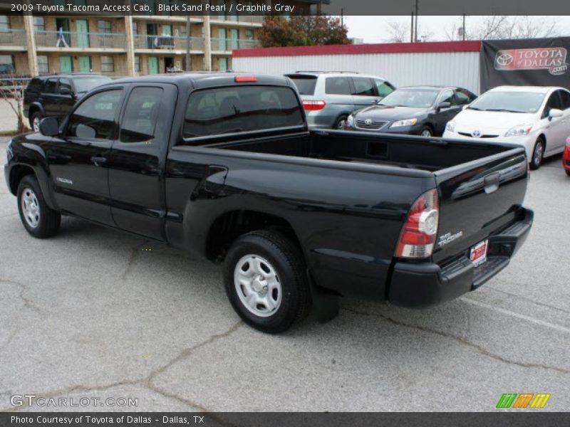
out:
{"label": "black pickup tailgate with handle and Tacoma lettering", "polygon": [[512,223],[527,191],[528,174],[522,147],[435,172],[440,194],[435,263],[466,253]]}

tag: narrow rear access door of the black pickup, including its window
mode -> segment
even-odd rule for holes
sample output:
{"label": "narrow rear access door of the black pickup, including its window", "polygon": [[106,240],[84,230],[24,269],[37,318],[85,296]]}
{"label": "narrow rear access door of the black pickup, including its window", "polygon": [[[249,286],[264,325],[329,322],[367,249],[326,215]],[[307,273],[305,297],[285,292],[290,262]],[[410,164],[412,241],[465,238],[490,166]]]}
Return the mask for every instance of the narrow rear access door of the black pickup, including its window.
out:
{"label": "narrow rear access door of the black pickup, including its window", "polygon": [[174,85],[130,90],[109,162],[111,214],[120,228],[165,240],[162,171],[177,98]]}

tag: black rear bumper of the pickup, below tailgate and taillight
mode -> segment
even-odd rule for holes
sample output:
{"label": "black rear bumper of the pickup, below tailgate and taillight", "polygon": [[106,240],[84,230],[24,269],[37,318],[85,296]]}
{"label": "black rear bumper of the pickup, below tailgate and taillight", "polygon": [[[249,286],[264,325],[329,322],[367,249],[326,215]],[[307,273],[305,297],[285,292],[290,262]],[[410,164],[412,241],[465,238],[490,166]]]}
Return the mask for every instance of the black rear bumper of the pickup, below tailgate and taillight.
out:
{"label": "black rear bumper of the pickup, below tailgate and taillight", "polygon": [[534,212],[524,209],[522,219],[489,236],[487,262],[477,268],[465,253],[445,265],[396,262],[388,300],[403,307],[428,307],[479,288],[509,265],[527,239],[533,218]]}

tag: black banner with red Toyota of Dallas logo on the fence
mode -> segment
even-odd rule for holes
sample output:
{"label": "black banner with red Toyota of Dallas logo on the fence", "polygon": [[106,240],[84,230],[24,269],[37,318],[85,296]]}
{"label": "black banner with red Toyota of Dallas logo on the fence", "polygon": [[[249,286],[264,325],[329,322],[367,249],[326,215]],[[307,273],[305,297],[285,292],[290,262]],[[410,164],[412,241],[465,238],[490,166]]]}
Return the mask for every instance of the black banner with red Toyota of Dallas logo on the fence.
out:
{"label": "black banner with red Toyota of Dallas logo on the fence", "polygon": [[481,43],[481,93],[501,85],[570,89],[570,37]]}

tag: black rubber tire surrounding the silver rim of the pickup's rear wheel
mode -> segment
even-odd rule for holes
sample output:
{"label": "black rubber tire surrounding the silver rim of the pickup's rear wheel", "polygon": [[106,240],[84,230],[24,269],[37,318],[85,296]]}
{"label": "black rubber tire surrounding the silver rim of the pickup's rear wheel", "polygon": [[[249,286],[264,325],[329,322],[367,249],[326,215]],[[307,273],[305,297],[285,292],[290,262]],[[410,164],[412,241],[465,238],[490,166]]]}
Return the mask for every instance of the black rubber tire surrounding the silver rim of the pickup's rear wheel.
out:
{"label": "black rubber tire surrounding the silver rim of the pickup's rear wheel", "polygon": [[[255,308],[247,307],[247,302],[242,301],[242,299],[247,298],[247,290],[242,284],[239,285],[238,290],[234,280],[234,275],[239,272],[238,263],[242,265],[244,259],[247,263],[250,255],[254,255],[257,257],[256,259],[261,258],[269,264],[269,271],[272,269],[276,273],[276,281],[281,290],[279,305],[273,312],[266,310],[264,316],[254,313],[252,310],[256,310]],[[244,274],[249,270],[249,267],[247,270],[242,268]],[[253,282],[254,280],[252,280]],[[224,285],[229,302],[232,303],[239,317],[242,317],[244,322],[261,332],[269,334],[284,332],[294,322],[305,317],[311,309],[311,291],[301,250],[289,238],[276,231],[254,231],[241,236],[232,244],[224,261]],[[250,290],[254,289],[254,285],[249,288]],[[267,294],[267,287],[264,289]],[[238,292],[242,292],[242,295],[238,295]],[[269,292],[272,291],[269,290]],[[251,293],[254,294],[254,292]],[[257,292],[254,297],[257,298],[259,295]],[[264,307],[257,302],[254,304],[257,307]]]}

